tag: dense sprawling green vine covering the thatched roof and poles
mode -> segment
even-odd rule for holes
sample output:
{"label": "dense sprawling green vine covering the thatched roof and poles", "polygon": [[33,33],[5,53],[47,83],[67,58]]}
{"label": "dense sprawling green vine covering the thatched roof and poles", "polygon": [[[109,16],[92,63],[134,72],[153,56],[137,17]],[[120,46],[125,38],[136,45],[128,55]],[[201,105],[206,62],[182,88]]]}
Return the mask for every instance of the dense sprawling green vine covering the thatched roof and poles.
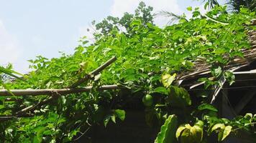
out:
{"label": "dense sprawling green vine covering the thatched roof and poles", "polygon": [[[189,7],[192,19],[180,19],[179,24],[162,29],[152,24],[150,9],[141,4],[137,14],[124,15],[129,22],[122,23],[122,19],[113,17],[105,19],[97,25],[101,32],[96,34],[95,43],[88,46],[86,38],[81,39],[81,45],[72,55],[62,54],[54,59],[37,56],[30,60],[35,70],[24,75],[25,82],[17,79],[6,83],[6,87],[65,88],[112,56],[117,57],[114,64],[101,72],[100,78],[81,84],[81,87],[93,85],[91,92],[55,99],[29,113],[35,114],[33,117],[4,119],[0,123],[0,138],[6,142],[70,142],[94,124],[107,127],[109,121],[124,120],[124,104],[133,96],[143,100],[149,126],[165,122],[155,142],[207,142],[214,132],[221,141],[240,130],[253,133],[252,114],[234,121],[218,118],[218,111],[209,104],[207,95],[198,95],[194,103],[186,89],[175,86],[175,79],[193,69],[193,61],[204,59],[216,77],[208,86],[216,84],[219,76],[227,74],[222,67],[234,57],[242,57],[241,49],[250,48],[244,26],[250,24],[255,13],[241,9],[237,14],[229,14],[225,6],[216,6],[206,18],[198,8]],[[121,31],[116,24],[123,24],[125,30]],[[129,92],[122,89],[97,92],[97,87],[104,84],[120,84]],[[45,98],[1,97],[0,114],[15,114]],[[180,110],[186,114],[180,114]]]}

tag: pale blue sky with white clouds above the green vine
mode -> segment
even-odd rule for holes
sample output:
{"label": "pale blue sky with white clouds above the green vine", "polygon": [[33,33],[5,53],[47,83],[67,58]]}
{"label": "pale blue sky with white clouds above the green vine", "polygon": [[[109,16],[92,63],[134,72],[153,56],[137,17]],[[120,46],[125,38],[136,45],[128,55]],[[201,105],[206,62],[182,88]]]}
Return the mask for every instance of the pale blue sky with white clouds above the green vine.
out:
{"label": "pale blue sky with white clouds above the green vine", "polygon": [[[122,16],[132,12],[139,0],[0,0],[0,64],[9,62],[22,73],[29,71],[28,59],[37,55],[60,56],[59,51],[72,54],[81,36],[91,36],[86,29],[91,21]],[[166,10],[188,13],[188,6],[202,6],[192,0],[145,0],[155,12]],[[155,19],[159,25],[166,19]]]}

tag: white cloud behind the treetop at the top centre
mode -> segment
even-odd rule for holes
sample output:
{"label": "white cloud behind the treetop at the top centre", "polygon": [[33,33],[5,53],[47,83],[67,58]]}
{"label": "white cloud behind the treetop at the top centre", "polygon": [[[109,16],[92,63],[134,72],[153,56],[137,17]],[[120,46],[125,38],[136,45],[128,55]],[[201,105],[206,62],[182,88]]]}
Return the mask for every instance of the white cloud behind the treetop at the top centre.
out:
{"label": "white cloud behind the treetop at the top centre", "polygon": [[[183,11],[178,6],[177,0],[145,0],[147,6],[152,6],[154,8],[153,12],[157,13],[159,11],[170,11],[174,14],[182,14]],[[114,0],[114,4],[111,6],[112,16],[122,16],[124,12],[134,13],[134,10],[139,5],[140,0]],[[155,19],[155,24],[163,26],[167,24],[168,19],[162,16],[158,16]]]}

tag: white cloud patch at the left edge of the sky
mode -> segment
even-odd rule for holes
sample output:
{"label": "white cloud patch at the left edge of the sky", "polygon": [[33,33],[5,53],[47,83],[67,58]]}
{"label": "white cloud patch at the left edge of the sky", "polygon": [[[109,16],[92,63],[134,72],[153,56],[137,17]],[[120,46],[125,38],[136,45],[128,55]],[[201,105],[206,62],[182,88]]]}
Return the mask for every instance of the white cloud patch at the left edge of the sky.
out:
{"label": "white cloud patch at the left edge of the sky", "polygon": [[0,20],[0,65],[15,64],[19,59],[20,52],[17,39],[9,34],[3,21]]}

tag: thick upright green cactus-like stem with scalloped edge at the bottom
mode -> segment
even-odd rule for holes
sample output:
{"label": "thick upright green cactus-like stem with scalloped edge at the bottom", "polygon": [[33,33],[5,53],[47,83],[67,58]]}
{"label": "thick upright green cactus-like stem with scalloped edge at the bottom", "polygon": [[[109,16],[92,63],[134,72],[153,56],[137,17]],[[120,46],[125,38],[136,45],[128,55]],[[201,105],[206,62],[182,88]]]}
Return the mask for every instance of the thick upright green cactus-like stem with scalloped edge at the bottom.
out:
{"label": "thick upright green cactus-like stem with scalloped edge at the bottom", "polygon": [[157,134],[155,143],[170,143],[175,142],[175,131],[177,129],[178,120],[175,115],[170,115],[165,120],[165,124],[161,127],[160,132]]}

